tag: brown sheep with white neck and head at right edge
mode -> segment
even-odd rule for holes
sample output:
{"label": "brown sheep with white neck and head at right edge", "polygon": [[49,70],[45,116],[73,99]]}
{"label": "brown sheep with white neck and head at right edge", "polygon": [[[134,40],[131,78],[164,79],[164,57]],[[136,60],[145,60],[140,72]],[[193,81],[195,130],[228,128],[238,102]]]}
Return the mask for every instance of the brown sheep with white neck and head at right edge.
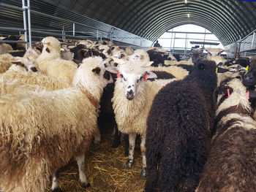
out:
{"label": "brown sheep with white neck and head at right edge", "polygon": [[246,87],[229,78],[216,93],[217,133],[196,191],[256,191],[256,122]]}

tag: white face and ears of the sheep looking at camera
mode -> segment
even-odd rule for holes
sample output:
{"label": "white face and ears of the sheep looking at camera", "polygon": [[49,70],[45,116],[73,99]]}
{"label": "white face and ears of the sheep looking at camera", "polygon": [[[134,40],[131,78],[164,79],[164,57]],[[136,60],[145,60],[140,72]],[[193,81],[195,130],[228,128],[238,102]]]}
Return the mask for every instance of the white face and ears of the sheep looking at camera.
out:
{"label": "white face and ears of the sheep looking at camera", "polygon": [[124,61],[122,64],[116,61],[116,63],[118,63],[118,67],[107,67],[107,70],[116,73],[118,77],[116,83],[124,89],[124,94],[128,100],[134,99],[136,93],[141,91],[144,81],[157,77],[153,72],[147,72],[146,68],[138,63],[130,61]]}

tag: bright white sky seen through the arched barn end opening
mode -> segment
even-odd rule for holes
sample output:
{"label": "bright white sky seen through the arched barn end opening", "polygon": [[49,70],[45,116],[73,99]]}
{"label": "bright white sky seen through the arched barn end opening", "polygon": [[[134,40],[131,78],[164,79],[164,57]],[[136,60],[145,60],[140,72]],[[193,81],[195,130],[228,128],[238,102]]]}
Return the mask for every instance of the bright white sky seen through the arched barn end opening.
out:
{"label": "bright white sky seen through the arched barn end opening", "polygon": [[[182,32],[201,32],[204,33],[206,30],[206,33],[211,33],[211,31],[208,31],[206,28],[200,27],[200,26],[195,26],[195,25],[183,25],[183,26],[178,26],[176,28],[173,28],[173,31],[182,31]],[[170,29],[169,31],[172,31]],[[187,50],[190,50],[191,47],[195,47],[195,45],[191,45],[189,42],[190,41],[196,41],[196,42],[203,42],[204,39],[204,34],[187,34]],[[167,33],[162,34],[161,37],[159,37],[158,41],[159,44],[162,46],[162,48],[165,48],[167,50],[170,50],[170,47],[173,48],[173,43],[175,43],[174,47],[175,49],[184,49],[186,47],[186,34],[176,34],[176,39],[175,41],[171,42],[172,33]],[[174,34],[173,34],[174,37]],[[181,39],[178,39],[181,38]],[[184,38],[184,39],[182,39]],[[206,34],[206,40],[205,42],[219,42],[219,39],[214,35],[214,34]],[[170,46],[170,44],[172,45]],[[201,45],[200,45],[201,47]],[[221,42],[219,42],[219,45],[205,45],[205,47],[212,47],[212,48],[222,48],[224,49],[223,45]]]}

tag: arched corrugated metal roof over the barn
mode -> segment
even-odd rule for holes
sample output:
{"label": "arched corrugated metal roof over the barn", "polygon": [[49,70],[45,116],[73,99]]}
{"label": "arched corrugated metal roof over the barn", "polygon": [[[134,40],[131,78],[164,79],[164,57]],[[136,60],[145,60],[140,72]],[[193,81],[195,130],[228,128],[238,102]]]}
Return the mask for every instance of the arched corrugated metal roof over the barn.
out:
{"label": "arched corrugated metal roof over the barn", "polygon": [[[256,1],[187,0],[187,4],[184,0],[34,1],[37,1],[37,9],[45,9],[45,12],[59,7],[151,40],[170,28],[195,24],[207,28],[223,45],[228,45],[256,28]],[[51,7],[45,4],[40,7],[40,2]]]}

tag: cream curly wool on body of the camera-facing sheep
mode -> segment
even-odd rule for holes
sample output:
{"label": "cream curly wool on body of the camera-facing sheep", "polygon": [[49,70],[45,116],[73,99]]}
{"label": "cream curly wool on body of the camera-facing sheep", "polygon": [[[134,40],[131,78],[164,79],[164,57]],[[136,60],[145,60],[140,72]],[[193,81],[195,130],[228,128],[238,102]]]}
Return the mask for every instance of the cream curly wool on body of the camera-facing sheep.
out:
{"label": "cream curly wool on body of the camera-facing sheep", "polygon": [[[173,79],[176,80],[176,79]],[[146,119],[151,108],[154,96],[159,89],[173,80],[156,80],[154,82],[140,82],[135,98],[128,100],[120,78],[116,80],[113,95],[113,110],[119,131],[124,134],[146,134]]]}

